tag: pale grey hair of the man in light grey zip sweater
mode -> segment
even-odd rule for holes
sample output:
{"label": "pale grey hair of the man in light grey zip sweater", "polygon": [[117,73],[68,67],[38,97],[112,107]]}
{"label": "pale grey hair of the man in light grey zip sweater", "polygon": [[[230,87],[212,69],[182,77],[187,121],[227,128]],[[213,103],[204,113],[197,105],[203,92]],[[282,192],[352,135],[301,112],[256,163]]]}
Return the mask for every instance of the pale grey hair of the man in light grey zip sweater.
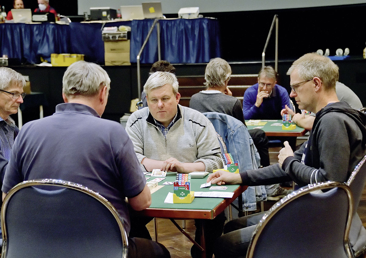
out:
{"label": "pale grey hair of the man in light grey zip sweater", "polygon": [[147,79],[145,85],[143,86],[143,91],[146,95],[149,95],[149,92],[153,89],[161,88],[165,84],[170,84],[173,86],[173,93],[176,95],[178,93],[178,80],[175,77],[175,74],[169,72],[161,72],[157,71],[152,73]]}

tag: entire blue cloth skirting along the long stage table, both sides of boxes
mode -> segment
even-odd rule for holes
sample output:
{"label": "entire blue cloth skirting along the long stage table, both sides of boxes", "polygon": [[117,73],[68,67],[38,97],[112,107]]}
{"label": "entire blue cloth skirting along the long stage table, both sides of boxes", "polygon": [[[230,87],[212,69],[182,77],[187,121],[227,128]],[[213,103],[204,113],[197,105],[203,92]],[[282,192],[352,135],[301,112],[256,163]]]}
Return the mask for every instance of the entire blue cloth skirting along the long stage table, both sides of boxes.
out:
{"label": "entire blue cloth skirting along the long stage table, both sides of boxes", "polygon": [[[131,26],[131,63],[137,55],[153,23],[152,19],[126,22],[0,24],[0,55],[8,58],[40,63],[40,57],[51,62],[51,54],[84,54],[85,60],[104,64],[102,26]],[[161,58],[171,63],[207,63],[220,57],[220,31],[216,19],[161,19]],[[141,63],[158,60],[157,30],[154,29],[145,49]]]}

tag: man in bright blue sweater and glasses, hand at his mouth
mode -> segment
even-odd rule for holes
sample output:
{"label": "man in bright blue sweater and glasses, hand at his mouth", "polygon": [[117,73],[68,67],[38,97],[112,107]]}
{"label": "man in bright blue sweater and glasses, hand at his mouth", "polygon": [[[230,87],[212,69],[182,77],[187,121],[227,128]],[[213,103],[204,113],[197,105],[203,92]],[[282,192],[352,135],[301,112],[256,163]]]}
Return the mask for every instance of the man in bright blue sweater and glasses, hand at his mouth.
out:
{"label": "man in bright blue sweater and glasses, hand at his mouth", "polygon": [[277,73],[272,66],[264,66],[258,73],[258,83],[244,92],[244,119],[282,119],[281,110],[290,106],[285,88],[276,84]]}

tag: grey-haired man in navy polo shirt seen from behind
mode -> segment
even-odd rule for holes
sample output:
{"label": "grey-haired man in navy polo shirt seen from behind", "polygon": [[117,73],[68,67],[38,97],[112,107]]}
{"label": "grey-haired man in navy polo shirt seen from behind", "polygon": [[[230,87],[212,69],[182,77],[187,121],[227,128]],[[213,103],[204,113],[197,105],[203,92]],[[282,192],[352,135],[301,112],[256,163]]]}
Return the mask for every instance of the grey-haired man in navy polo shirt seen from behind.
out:
{"label": "grey-haired man in navy polo shirt seen from behind", "polygon": [[[107,72],[94,63],[79,61],[66,69],[62,89],[65,103],[56,106],[55,114],[25,124],[15,140],[5,172],[3,199],[24,180],[54,178],[82,184],[113,204],[129,234],[129,207],[146,209],[151,195],[123,126],[100,118],[110,82]],[[170,254],[152,240],[128,237],[127,257]]]}

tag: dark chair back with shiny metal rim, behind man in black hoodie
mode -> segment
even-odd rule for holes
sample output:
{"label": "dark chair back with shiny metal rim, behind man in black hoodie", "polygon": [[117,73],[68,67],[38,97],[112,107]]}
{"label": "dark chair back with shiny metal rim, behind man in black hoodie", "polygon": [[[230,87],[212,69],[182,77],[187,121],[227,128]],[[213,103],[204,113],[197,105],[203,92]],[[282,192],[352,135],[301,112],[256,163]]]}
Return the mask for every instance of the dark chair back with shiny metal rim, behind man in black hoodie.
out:
{"label": "dark chair back with shiny metal rim, behind man in black hoodie", "polygon": [[352,257],[348,244],[352,213],[351,189],[344,183],[300,188],[264,214],[246,257]]}

